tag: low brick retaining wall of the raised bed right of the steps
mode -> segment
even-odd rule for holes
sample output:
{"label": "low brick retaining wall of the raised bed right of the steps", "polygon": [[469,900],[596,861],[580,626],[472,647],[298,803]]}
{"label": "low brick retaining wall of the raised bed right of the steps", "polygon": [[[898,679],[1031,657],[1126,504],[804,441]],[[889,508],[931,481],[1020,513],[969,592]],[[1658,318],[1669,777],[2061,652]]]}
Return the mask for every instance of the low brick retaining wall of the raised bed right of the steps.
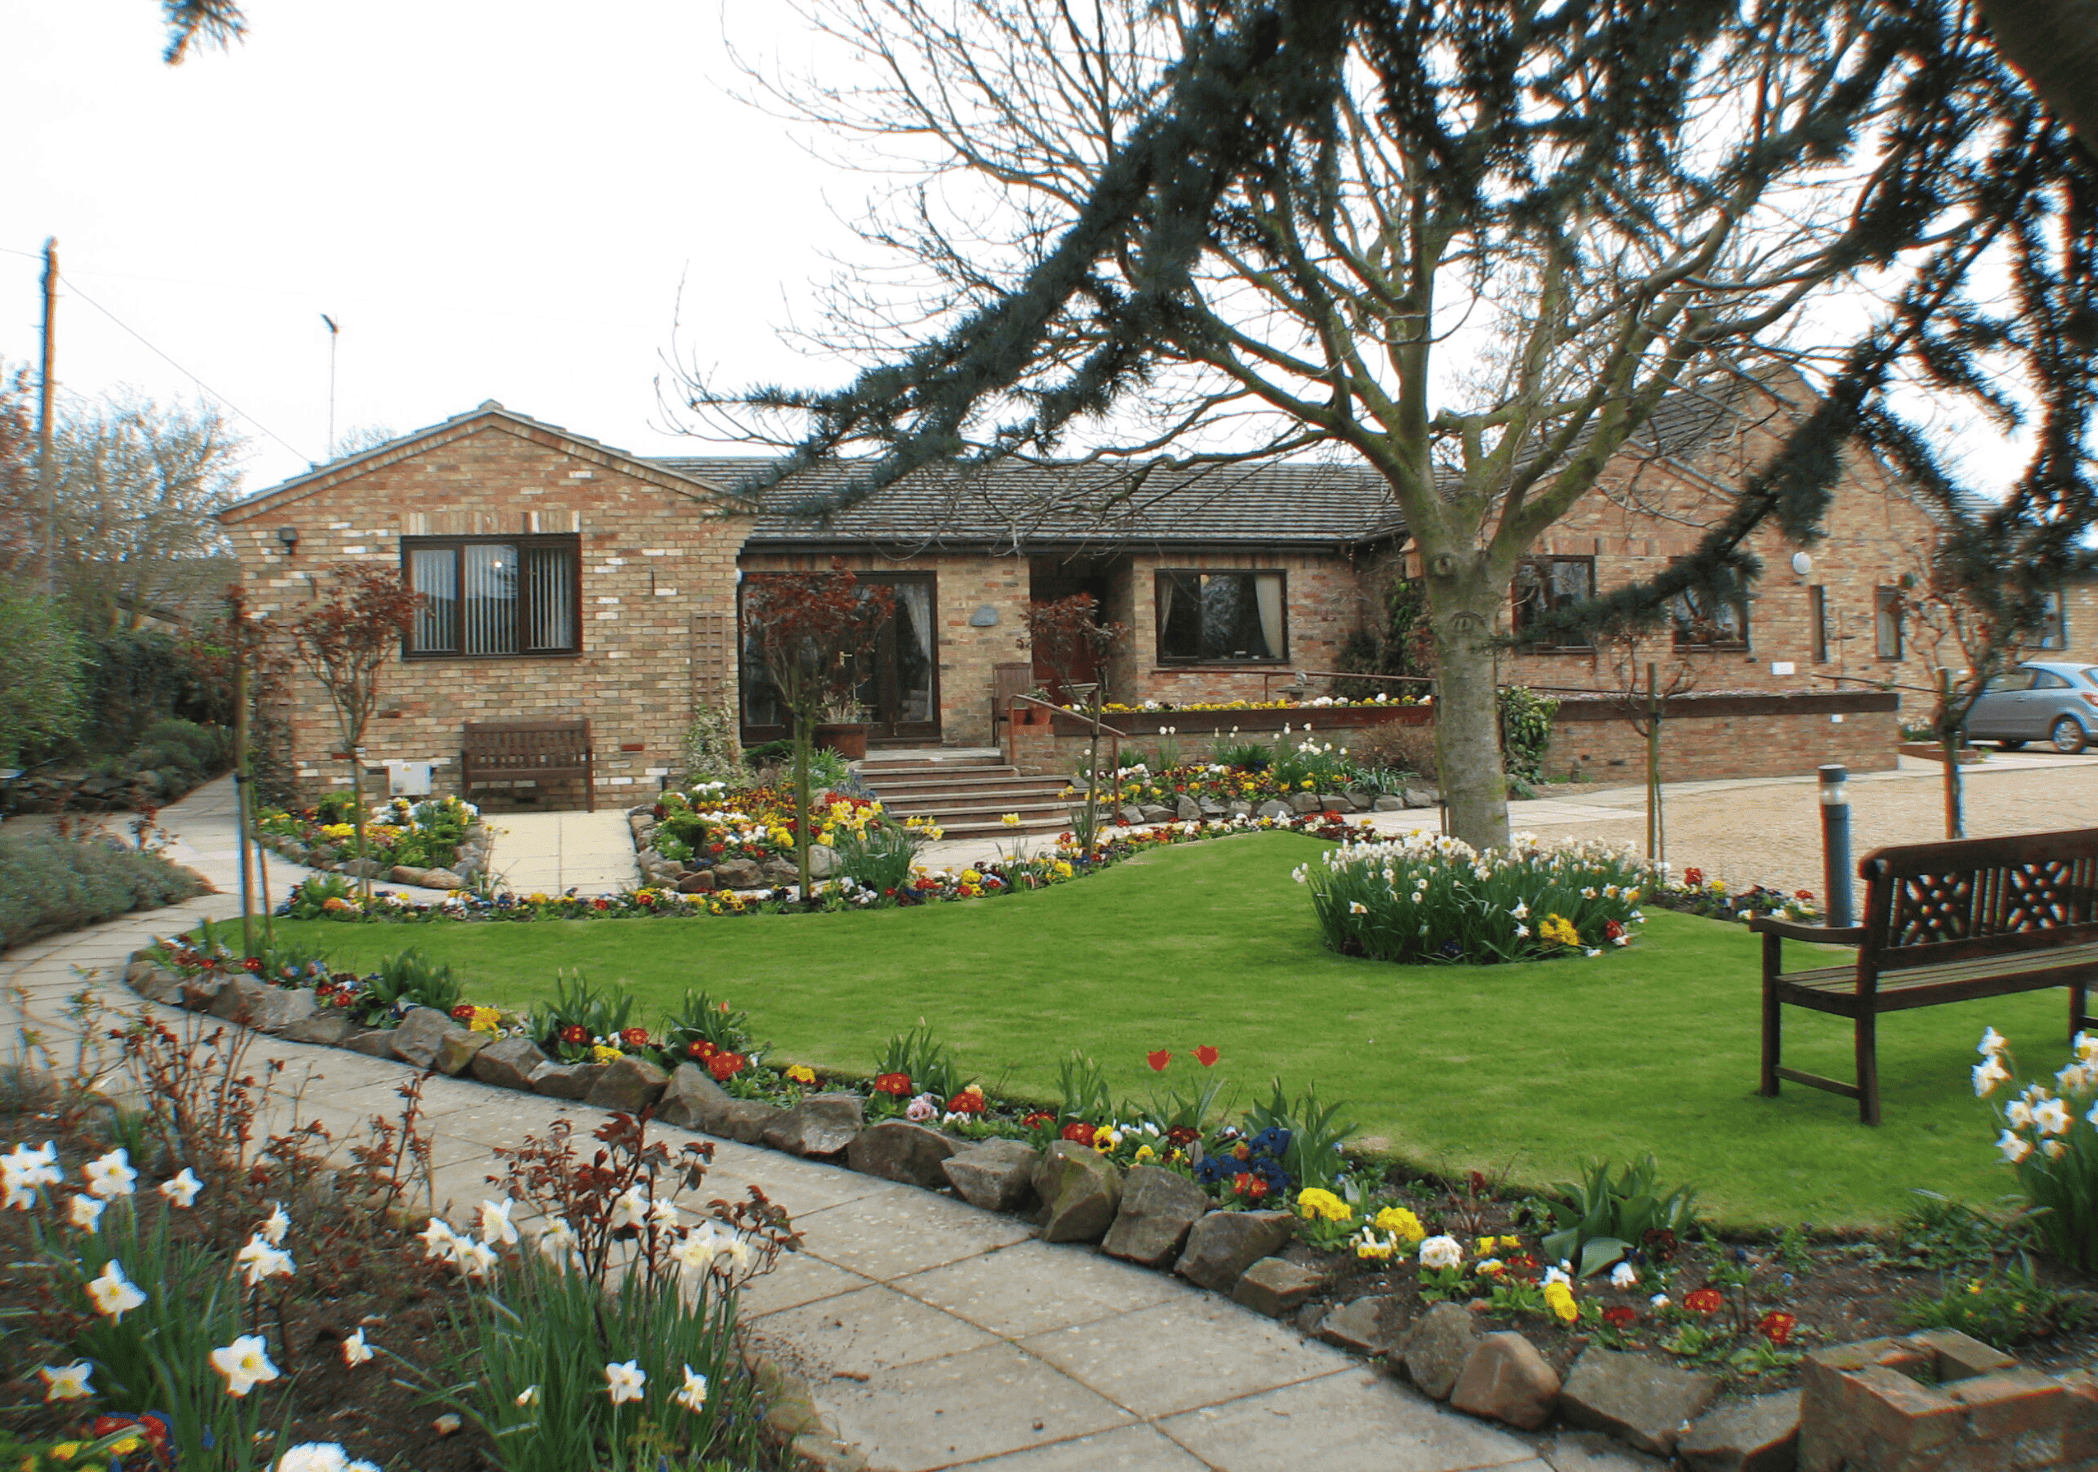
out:
{"label": "low brick retaining wall of the raised bed right of the steps", "polygon": [[[1009,726],[1007,759],[1022,772],[1076,772],[1085,765],[1089,726],[1076,715],[1020,707]],[[1632,707],[1615,698],[1567,698],[1553,723],[1544,759],[1553,776],[1582,774],[1626,782],[1645,772],[1647,740]],[[1162,740],[1183,759],[1206,761],[1219,744],[1273,740],[1309,730],[1345,746],[1351,732],[1372,726],[1429,726],[1431,705],[1297,707],[1288,711],[1118,711],[1104,726],[1125,732],[1125,746],[1154,751]],[[1171,736],[1160,736],[1160,732]],[[1901,742],[1901,696],[1880,690],[1800,690],[1790,694],[1687,694],[1662,705],[1662,776],[1670,782],[1706,778],[1806,776],[1840,761],[1853,772],[1894,767]],[[1106,742],[1101,742],[1106,749]]]}

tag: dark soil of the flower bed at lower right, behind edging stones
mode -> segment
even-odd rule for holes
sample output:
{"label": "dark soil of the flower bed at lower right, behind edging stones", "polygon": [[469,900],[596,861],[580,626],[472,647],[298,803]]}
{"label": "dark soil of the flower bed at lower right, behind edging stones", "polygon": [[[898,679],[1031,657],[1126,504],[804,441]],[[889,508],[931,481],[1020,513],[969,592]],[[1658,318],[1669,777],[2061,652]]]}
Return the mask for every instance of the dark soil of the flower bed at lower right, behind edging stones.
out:
{"label": "dark soil of the flower bed at lower right, behind edging stones", "polygon": [[[1527,1199],[1496,1199],[1469,1185],[1448,1189],[1408,1174],[1395,1174],[1391,1191],[1418,1214],[1427,1231],[1462,1241],[1467,1264],[1479,1237],[1521,1237],[1532,1254],[1538,1250],[1538,1216]],[[1448,1294],[1448,1300],[1477,1304],[1481,1332],[1523,1334],[1561,1378],[1584,1348],[1603,1344],[1716,1373],[1731,1394],[1787,1390],[1800,1384],[1798,1363],[1806,1350],[1936,1327],[1939,1321],[1920,1323],[1911,1317],[1918,1300],[1951,1302],[1978,1315],[1953,1327],[2016,1355],[2033,1369],[2062,1373],[2098,1365],[2098,1279],[2020,1248],[2014,1231],[1995,1218],[1920,1193],[1918,1208],[1888,1233],[1832,1237],[1798,1231],[1775,1241],[1712,1235],[1676,1243],[1666,1262],[1657,1262],[1655,1252],[1641,1252],[1636,1285],[1613,1287],[1609,1273],[1574,1285],[1584,1306],[1574,1325],[1559,1325],[1548,1313],[1485,1306],[1469,1267],[1464,1287]],[[1376,1262],[1297,1241],[1282,1256],[1328,1275],[1326,1290],[1294,1315],[1305,1334],[1318,1334],[1334,1308],[1357,1298],[1395,1298],[1393,1319],[1404,1323],[1433,1304],[1410,1254]],[[1542,1267],[1548,1264],[1517,1271],[1536,1281]],[[2014,1277],[2027,1267],[2033,1273],[2031,1287]],[[1714,1273],[1725,1279],[1729,1271],[1746,1273],[1746,1296],[1722,1290],[1722,1300],[1731,1302],[1712,1313],[1683,1306],[1697,1290],[1714,1283]],[[1974,1292],[1976,1287],[1983,1292]],[[1666,1294],[1670,1306],[1655,1308],[1655,1294]],[[1622,1325],[1597,1325],[1588,1306],[1632,1317]],[[1790,1319],[1771,1323],[1783,1344],[1773,1344],[1769,1332],[1758,1332],[1756,1325],[1767,1323],[1769,1315]]]}

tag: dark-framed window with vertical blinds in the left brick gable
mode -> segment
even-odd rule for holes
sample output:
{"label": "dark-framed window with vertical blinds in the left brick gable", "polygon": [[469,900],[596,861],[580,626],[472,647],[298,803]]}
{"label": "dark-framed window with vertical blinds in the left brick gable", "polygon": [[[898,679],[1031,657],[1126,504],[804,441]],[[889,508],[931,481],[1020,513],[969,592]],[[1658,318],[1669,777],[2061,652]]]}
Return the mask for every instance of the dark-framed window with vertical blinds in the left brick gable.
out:
{"label": "dark-framed window with vertical blinds in the left brick gable", "polygon": [[579,537],[411,537],[411,656],[575,654]]}

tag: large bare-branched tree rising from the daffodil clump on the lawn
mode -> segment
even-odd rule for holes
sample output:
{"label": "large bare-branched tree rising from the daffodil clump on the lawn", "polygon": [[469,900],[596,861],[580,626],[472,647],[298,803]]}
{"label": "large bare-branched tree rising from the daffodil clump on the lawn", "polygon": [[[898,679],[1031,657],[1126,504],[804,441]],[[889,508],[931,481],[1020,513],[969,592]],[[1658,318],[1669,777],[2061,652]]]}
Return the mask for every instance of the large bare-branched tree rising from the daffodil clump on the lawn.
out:
{"label": "large bare-branched tree rising from the daffodil clump on the lawn", "polygon": [[[1903,346],[1985,323],[1964,283],[2004,191],[2058,161],[1955,4],[801,8],[850,65],[770,96],[904,176],[866,224],[904,270],[837,294],[831,342],[875,363],[850,388],[694,407],[785,415],[776,476],[873,449],[845,499],[1074,442],[1360,457],[1420,554],[1443,788],[1481,845],[1508,832],[1496,623],[1538,535],[1670,394],[1819,350],[1840,392],[1662,593],[1737,589],[1773,507],[1811,537],[1800,486]],[[1842,321],[1859,285],[1884,329]]]}

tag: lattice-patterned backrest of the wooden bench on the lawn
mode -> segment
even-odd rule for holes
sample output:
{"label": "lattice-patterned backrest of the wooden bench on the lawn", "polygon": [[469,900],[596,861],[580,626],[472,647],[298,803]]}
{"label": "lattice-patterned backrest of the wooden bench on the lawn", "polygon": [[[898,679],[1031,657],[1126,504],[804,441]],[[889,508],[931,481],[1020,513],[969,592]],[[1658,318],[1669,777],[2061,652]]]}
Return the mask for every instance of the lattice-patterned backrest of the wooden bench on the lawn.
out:
{"label": "lattice-patterned backrest of the wooden bench on the lawn", "polygon": [[2098,828],[1876,849],[1865,879],[1871,971],[2098,941]]}

